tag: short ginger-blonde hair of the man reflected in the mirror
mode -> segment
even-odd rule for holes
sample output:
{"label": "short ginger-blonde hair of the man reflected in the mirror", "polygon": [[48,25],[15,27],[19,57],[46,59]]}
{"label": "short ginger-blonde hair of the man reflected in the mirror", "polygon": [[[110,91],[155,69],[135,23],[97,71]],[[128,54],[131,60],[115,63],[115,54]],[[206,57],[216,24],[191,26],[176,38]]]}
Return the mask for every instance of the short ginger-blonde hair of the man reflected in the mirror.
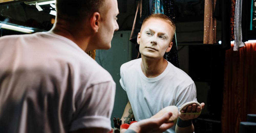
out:
{"label": "short ginger-blonde hair of the man reflected in the mirror", "polygon": [[171,41],[172,41],[173,36],[174,36],[174,34],[175,34],[175,31],[176,31],[176,26],[175,26],[175,23],[174,23],[169,17],[167,17],[167,16],[164,15],[164,14],[152,14],[152,15],[146,17],[146,18],[143,20],[143,22],[142,22],[141,31],[140,31],[140,32],[142,32],[143,26],[145,25],[145,23],[146,23],[148,20],[153,19],[153,18],[154,18],[154,19],[161,19],[161,20],[164,20],[164,21],[166,21],[168,24],[170,24],[170,25],[172,26],[172,28],[173,28],[173,32],[172,32],[172,36],[171,36]]}

